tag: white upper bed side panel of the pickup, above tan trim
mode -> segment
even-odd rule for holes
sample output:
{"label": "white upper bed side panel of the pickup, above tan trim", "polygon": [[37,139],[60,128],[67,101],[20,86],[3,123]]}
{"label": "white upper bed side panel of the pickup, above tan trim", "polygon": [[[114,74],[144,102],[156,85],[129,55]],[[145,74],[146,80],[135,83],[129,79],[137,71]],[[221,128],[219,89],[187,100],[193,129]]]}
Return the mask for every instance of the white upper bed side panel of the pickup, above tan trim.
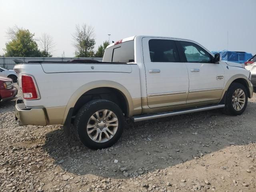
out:
{"label": "white upper bed side panel of the pickup, above tan trim", "polygon": [[[124,86],[132,98],[140,98],[139,70],[136,64],[21,64],[15,66],[21,75],[34,76],[38,86],[40,100],[24,100],[28,107],[42,106],[45,108],[67,106],[72,94],[80,87],[94,81],[112,81]],[[94,67],[95,72],[92,72]],[[99,72],[101,71],[101,72]],[[114,71],[114,72],[112,72]],[[47,72],[47,73],[46,73]]]}

